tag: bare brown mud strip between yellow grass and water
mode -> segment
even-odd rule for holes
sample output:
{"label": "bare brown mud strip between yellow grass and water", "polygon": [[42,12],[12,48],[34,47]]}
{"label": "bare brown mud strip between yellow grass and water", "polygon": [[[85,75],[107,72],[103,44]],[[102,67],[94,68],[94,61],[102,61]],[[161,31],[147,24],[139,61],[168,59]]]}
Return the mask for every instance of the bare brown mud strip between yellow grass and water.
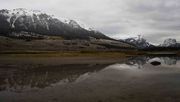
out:
{"label": "bare brown mud strip between yellow grass and water", "polygon": [[61,65],[61,64],[107,64],[117,63],[127,60],[127,58],[110,57],[1,57],[1,65],[11,64],[42,64],[42,65]]}

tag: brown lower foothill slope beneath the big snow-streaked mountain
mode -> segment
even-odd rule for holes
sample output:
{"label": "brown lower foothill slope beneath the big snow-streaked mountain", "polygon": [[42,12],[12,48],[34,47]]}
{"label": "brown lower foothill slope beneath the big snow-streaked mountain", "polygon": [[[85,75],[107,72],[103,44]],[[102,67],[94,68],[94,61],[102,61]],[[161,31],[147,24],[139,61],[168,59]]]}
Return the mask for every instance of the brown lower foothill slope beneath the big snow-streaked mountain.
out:
{"label": "brown lower foothill slope beneath the big snow-streaked mountain", "polygon": [[134,50],[129,44],[104,39],[63,40],[61,37],[47,37],[37,40],[22,40],[0,36],[2,51],[122,51]]}

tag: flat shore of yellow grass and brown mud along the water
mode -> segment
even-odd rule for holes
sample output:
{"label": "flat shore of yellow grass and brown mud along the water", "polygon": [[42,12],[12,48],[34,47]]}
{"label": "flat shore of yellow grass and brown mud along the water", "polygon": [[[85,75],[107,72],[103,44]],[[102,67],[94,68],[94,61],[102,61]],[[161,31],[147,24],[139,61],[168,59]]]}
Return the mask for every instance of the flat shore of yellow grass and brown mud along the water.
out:
{"label": "flat shore of yellow grass and brown mud along the water", "polygon": [[118,63],[127,60],[129,57],[158,55],[141,51],[0,51],[0,56],[0,65],[32,64],[51,66]]}

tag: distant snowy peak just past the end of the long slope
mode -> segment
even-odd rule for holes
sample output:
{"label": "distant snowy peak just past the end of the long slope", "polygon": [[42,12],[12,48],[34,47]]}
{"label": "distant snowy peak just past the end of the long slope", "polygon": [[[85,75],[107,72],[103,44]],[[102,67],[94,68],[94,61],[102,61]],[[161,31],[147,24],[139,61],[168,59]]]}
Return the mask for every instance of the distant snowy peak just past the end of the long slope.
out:
{"label": "distant snowy peak just past the end of the long slope", "polygon": [[142,38],[141,36],[123,39],[123,41],[126,43],[129,43],[129,44],[133,44],[140,49],[149,48],[149,47],[154,46],[154,45],[150,44],[149,42],[147,42],[146,39]]}

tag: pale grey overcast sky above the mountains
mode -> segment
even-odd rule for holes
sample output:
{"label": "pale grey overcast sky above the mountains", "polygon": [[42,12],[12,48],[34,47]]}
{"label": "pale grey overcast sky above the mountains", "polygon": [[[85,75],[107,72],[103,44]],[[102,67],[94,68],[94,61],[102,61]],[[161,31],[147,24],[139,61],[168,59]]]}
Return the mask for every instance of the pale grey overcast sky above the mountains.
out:
{"label": "pale grey overcast sky above the mountains", "polygon": [[118,39],[141,34],[152,43],[180,41],[180,0],[0,0],[0,8],[42,10]]}

